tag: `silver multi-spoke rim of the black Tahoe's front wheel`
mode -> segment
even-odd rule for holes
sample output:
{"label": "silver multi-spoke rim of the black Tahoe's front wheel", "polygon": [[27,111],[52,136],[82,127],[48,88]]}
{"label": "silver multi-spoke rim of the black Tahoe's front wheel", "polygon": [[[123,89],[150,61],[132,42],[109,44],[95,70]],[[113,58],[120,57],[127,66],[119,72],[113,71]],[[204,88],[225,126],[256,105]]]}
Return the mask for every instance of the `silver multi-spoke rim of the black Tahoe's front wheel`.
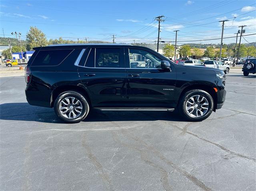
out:
{"label": "silver multi-spoke rim of the black Tahoe's front wheel", "polygon": [[191,117],[202,117],[208,109],[208,100],[202,95],[191,96],[186,102],[186,112]]}

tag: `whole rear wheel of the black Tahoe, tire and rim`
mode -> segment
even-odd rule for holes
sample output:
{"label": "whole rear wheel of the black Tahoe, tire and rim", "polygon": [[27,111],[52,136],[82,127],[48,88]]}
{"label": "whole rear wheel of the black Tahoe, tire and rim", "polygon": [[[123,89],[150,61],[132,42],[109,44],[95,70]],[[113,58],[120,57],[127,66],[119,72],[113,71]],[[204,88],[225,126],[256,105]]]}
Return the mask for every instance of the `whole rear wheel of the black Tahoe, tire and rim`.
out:
{"label": "whole rear wheel of the black Tahoe, tire and rim", "polygon": [[86,98],[76,91],[63,92],[54,102],[55,114],[67,123],[78,123],[84,120],[89,110],[90,106]]}

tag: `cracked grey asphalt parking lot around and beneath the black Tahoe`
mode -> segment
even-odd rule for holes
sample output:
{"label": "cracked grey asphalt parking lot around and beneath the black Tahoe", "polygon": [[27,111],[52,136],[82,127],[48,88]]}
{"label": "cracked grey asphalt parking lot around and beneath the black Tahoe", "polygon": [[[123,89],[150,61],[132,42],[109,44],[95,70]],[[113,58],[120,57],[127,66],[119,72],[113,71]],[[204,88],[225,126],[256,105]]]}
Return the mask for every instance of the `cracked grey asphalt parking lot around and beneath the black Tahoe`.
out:
{"label": "cracked grey asphalt parking lot around and beneath the black Tahoe", "polygon": [[0,78],[1,190],[256,190],[256,75],[230,73],[222,109],[101,112],[64,124]]}

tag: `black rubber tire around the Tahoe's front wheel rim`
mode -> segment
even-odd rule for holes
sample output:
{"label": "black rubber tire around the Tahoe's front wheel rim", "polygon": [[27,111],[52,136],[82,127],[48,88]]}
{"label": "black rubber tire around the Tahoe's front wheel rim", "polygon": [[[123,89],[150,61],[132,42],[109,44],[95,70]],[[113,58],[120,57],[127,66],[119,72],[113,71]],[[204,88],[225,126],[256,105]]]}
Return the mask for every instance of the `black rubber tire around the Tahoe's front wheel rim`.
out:
{"label": "black rubber tire around the Tahoe's front wheel rim", "polygon": [[[194,95],[202,95],[208,100],[209,107],[208,107],[208,111],[206,112],[206,114],[204,116],[192,117],[186,111],[186,102],[191,96],[194,96]],[[210,114],[212,113],[213,108],[214,108],[214,102],[213,102],[212,96],[210,96],[210,94],[207,93],[206,91],[190,90],[187,93],[185,93],[185,95],[183,96],[181,106],[182,106],[182,108],[181,108],[182,114],[185,116],[186,119],[188,119],[190,121],[202,121],[202,120],[208,118],[210,116]]]}

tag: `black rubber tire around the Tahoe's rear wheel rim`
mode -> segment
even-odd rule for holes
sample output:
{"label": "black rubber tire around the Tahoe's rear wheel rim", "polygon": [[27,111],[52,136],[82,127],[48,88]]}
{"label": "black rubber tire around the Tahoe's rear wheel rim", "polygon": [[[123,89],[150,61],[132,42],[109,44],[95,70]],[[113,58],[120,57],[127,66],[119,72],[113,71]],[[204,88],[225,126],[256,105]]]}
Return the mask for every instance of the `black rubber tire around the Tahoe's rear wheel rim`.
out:
{"label": "black rubber tire around the Tahoe's rear wheel rim", "polygon": [[[61,100],[63,100],[63,98],[65,98],[65,97],[75,97],[81,102],[81,104],[83,106],[82,114],[78,118],[68,119],[68,118],[62,116],[62,114],[60,113],[59,104],[60,104]],[[78,122],[82,121],[88,115],[89,109],[90,109],[89,104],[88,104],[86,98],[84,96],[82,96],[80,93],[75,92],[75,91],[66,91],[66,92],[61,93],[56,98],[56,100],[54,102],[54,111],[55,111],[56,115],[61,120],[65,121],[65,122],[68,122],[68,123],[78,123]]]}

